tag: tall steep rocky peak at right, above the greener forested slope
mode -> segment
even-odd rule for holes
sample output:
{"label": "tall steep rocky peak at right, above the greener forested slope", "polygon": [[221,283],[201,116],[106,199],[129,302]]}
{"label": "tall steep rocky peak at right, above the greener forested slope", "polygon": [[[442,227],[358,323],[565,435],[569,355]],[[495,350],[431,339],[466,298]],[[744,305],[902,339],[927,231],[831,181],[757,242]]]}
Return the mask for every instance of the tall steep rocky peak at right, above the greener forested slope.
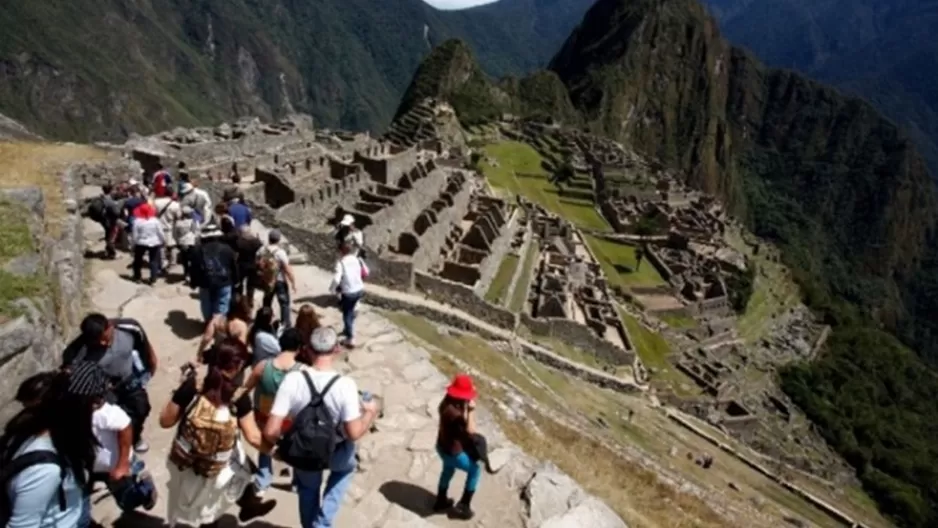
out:
{"label": "tall steep rocky peak at right, above the greener forested slope", "polygon": [[733,48],[694,0],[600,0],[551,61],[594,131],[687,172],[780,241],[815,305],[891,328],[938,218],[922,158],[868,103]]}

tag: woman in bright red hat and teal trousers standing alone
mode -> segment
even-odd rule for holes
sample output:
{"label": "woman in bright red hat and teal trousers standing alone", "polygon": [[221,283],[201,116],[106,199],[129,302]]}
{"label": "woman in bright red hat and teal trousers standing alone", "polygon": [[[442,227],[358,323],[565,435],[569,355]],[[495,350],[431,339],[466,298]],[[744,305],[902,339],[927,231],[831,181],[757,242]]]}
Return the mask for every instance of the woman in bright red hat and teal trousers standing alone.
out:
{"label": "woman in bright red hat and teal trousers standing alone", "polygon": [[[473,516],[470,503],[479,485],[482,469],[477,460],[469,457],[472,435],[475,434],[475,398],[476,389],[472,378],[467,374],[458,374],[446,388],[446,396],[440,402],[440,431],[436,441],[436,452],[443,460],[443,472],[437,487],[436,504],[433,509],[442,512],[452,508],[450,515],[458,519],[471,519]],[[447,496],[449,483],[456,470],[466,472],[466,487],[462,498],[453,506]]]}

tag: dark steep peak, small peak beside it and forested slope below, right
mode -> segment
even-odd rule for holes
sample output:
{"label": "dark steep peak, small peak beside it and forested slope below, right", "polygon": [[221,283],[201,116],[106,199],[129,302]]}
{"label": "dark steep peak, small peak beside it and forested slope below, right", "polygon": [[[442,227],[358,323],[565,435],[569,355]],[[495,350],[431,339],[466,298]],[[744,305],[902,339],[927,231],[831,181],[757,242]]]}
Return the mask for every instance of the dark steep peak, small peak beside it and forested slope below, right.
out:
{"label": "dark steep peak, small peak beside it and forested slope below, right", "polygon": [[[427,59],[415,94],[475,122],[522,107],[465,45]],[[786,391],[902,525],[938,524],[938,198],[924,159],[872,105],[727,43],[695,0],[599,0],[545,84],[591,130],[686,172],[776,242],[834,326]],[[504,83],[502,83],[504,84]],[[465,104],[471,101],[472,104]],[[400,111],[400,110],[399,110]],[[565,120],[565,122],[571,122]],[[896,336],[917,352],[910,352]]]}

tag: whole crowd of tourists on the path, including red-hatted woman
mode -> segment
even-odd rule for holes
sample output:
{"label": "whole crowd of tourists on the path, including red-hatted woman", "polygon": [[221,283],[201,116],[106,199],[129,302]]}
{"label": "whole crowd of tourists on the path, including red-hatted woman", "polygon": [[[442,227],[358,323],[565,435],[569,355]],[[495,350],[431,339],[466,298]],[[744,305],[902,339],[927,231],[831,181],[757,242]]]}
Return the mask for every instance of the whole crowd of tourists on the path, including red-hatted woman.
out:
{"label": "whole crowd of tourists on the path, including red-hatted woman", "polygon": [[[343,348],[355,346],[355,310],[369,273],[361,232],[346,216],[336,233],[330,291],[342,311],[341,334],[308,304],[291,324],[296,278],[280,234],[271,231],[263,244],[239,196],[226,196],[213,209],[207,194],[180,175],[175,193],[165,170],[145,184],[105,186],[100,202],[107,212],[92,214],[105,230],[107,257],[116,255],[119,233],[129,235],[134,280],[141,280],[144,260],[151,283],[165,274],[172,241],[185,280],[199,292],[205,330],[198,349],[168,401],[158,402],[159,426],[175,431],[165,462],[167,521],[213,527],[235,507],[242,522],[266,515],[275,501],[264,493],[280,460],[292,468],[299,525],[332,526],[357,468],[355,443],[379,415],[377,400],[336,368]],[[255,311],[258,290],[263,302]],[[95,483],[107,487],[122,511],[155,507],[157,487],[141,455],[149,450],[147,387],[159,363],[139,321],[99,313],[84,318],[61,366],[19,387],[22,409],[0,437],[0,524],[94,526]],[[459,375],[439,407],[443,471],[433,507],[461,519],[473,515],[480,467],[487,464],[484,438],[475,431],[475,398],[471,378]],[[454,504],[447,491],[457,469],[467,481]]]}

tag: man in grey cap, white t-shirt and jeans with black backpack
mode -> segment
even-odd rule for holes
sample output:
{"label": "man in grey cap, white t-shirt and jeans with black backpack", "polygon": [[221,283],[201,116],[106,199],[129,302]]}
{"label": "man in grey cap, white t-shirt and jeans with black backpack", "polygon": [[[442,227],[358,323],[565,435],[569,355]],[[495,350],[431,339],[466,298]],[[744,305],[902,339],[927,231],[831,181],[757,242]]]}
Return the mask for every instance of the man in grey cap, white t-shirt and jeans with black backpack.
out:
{"label": "man in grey cap, white t-shirt and jeans with black backpack", "polygon": [[[338,426],[335,427],[337,438],[331,458],[310,461],[314,465],[328,465],[329,478],[325,482],[325,489],[322,471],[305,471],[294,466],[293,483],[299,495],[302,528],[333,526],[345,492],[355,475],[355,442],[368,432],[378,415],[374,401],[359,399],[355,381],[336,371],[334,363],[339,354],[339,340],[335,330],[329,327],[317,328],[309,345],[314,355],[312,366],[304,365],[284,377],[264,427],[264,437],[271,443],[281,440],[286,419],[293,422],[284,440],[297,438],[311,428],[316,428],[317,424],[307,421],[316,419],[320,414],[311,405],[314,397],[322,402],[331,418],[331,423],[324,426],[330,429]],[[298,443],[291,445],[296,446]],[[280,447],[283,446],[281,443]],[[287,452],[297,453],[289,449]],[[284,457],[285,451],[278,449],[278,453]],[[284,461],[289,462],[286,458]]]}

